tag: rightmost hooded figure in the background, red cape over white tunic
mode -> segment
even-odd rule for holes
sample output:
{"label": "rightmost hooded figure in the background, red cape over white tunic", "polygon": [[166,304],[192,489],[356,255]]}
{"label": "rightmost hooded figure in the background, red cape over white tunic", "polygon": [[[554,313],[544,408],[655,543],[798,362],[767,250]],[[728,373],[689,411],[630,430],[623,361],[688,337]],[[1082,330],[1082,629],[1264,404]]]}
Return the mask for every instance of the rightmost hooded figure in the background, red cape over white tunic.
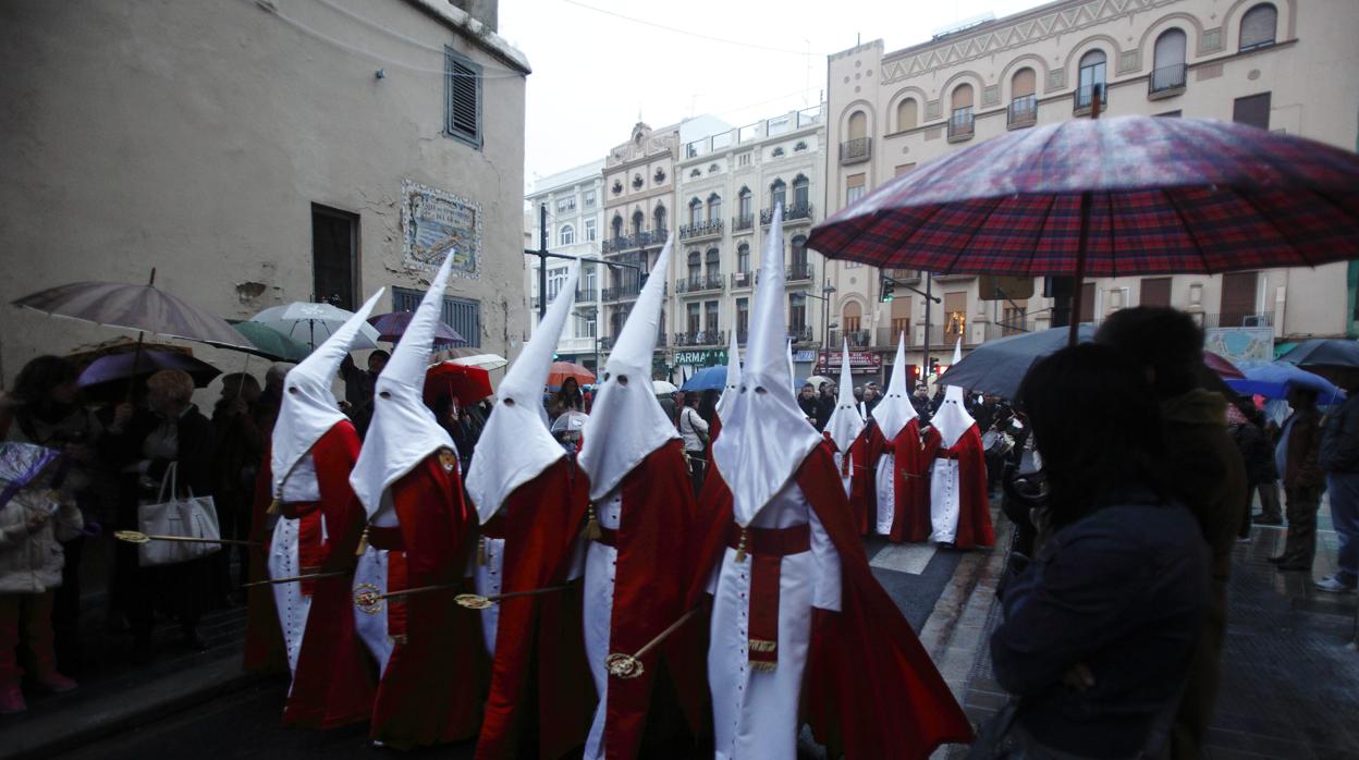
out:
{"label": "rightmost hooded figure in the background, red cape over white tunic", "polygon": [[[962,339],[953,349],[953,363],[962,362]],[[949,374],[945,373],[947,379]],[[987,502],[987,453],[981,432],[962,402],[962,389],[950,385],[943,402],[930,419],[925,454],[932,460],[930,477],[930,538],[959,549],[996,542]]]}

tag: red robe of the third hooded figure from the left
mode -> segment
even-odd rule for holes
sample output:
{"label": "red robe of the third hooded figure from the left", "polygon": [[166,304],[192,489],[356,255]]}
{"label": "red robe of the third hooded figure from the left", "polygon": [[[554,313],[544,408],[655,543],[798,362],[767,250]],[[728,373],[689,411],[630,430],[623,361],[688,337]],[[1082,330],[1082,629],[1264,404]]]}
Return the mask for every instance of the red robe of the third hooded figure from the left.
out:
{"label": "red robe of the third hooded figure from the left", "polygon": [[[504,519],[501,594],[564,582],[588,492],[575,462],[563,458],[510,494],[493,518]],[[480,624],[477,613],[463,615]],[[540,757],[561,757],[584,742],[594,703],[579,586],[500,602],[477,757],[519,757],[522,740],[534,733]]]}

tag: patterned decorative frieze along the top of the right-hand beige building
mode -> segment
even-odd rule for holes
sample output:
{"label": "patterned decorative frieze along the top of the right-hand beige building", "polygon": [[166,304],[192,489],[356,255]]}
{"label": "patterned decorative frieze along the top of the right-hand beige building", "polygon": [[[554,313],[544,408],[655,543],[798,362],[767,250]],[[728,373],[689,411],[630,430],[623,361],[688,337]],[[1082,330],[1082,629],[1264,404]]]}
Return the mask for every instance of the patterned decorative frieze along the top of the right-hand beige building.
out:
{"label": "patterned decorative frieze along the top of the right-hand beige building", "polygon": [[[953,41],[927,44],[915,52],[889,54],[881,69],[881,83],[892,84],[945,67],[1023,48],[1046,37],[1071,34],[1181,0],[1089,0],[1071,3],[1042,15],[1025,15],[1012,23],[983,29]],[[893,57],[898,56],[900,57]],[[1051,80],[1051,75],[1049,75]]]}

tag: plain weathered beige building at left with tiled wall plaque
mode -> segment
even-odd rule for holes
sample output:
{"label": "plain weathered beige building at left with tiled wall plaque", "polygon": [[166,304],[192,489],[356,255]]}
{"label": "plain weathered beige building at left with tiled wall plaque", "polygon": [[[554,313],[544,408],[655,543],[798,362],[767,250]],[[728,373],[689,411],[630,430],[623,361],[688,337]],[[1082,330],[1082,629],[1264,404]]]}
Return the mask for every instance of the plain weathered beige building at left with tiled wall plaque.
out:
{"label": "plain weathered beige building at left with tiled wall plaque", "polygon": [[[495,15],[482,0],[0,4],[0,300],[156,268],[158,287],[226,318],[352,307],[383,286],[387,311],[454,250],[444,319],[514,353],[529,64]],[[4,325],[5,378],[120,334],[10,307]]]}

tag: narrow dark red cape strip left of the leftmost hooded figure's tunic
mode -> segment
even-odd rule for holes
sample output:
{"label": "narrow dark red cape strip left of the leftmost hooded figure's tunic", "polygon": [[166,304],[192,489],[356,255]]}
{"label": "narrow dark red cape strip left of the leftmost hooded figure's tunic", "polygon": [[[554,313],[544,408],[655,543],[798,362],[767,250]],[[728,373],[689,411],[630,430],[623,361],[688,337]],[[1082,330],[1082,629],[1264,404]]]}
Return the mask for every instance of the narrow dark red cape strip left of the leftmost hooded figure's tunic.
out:
{"label": "narrow dark red cape strip left of the leftmost hooded figure's tunic", "polygon": [[[250,503],[250,548],[249,581],[251,583],[269,579],[269,542],[273,540],[269,525],[269,504],[273,503],[273,470],[269,466],[272,451],[265,450],[260,474],[255,476],[254,499]],[[270,586],[251,586],[246,593],[246,651],[242,668],[255,673],[288,673],[288,650],[283,643],[283,628],[279,627],[279,608],[273,604]]]}

